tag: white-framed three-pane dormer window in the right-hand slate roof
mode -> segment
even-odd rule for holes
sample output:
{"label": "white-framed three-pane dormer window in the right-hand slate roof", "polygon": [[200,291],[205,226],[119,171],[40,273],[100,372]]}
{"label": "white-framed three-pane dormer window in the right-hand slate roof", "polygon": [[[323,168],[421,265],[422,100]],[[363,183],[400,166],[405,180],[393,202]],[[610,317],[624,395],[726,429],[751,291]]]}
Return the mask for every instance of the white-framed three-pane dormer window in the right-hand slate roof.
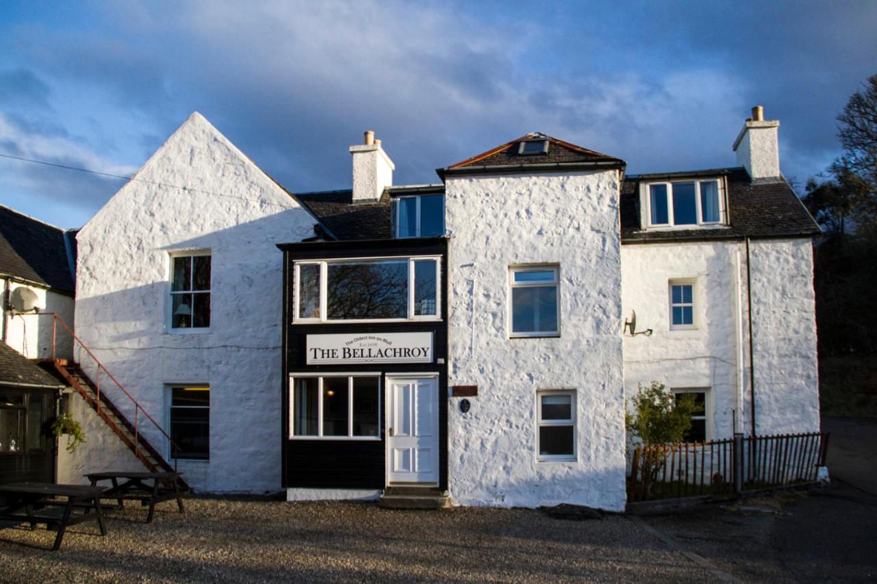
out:
{"label": "white-framed three-pane dormer window in the right-hand slate roof", "polygon": [[650,182],[645,185],[650,227],[691,227],[727,223],[724,182]]}

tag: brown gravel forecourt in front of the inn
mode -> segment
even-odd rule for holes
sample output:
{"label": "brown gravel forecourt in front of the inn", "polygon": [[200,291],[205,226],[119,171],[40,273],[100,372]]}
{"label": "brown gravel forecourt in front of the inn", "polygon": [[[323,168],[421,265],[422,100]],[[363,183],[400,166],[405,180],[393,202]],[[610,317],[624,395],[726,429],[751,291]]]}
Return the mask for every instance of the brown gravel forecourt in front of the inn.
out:
{"label": "brown gravel forecourt in front of the inn", "polygon": [[109,533],[0,530],[4,581],[716,580],[643,523],[530,509],[400,511],[358,503],[196,498],[112,512]]}

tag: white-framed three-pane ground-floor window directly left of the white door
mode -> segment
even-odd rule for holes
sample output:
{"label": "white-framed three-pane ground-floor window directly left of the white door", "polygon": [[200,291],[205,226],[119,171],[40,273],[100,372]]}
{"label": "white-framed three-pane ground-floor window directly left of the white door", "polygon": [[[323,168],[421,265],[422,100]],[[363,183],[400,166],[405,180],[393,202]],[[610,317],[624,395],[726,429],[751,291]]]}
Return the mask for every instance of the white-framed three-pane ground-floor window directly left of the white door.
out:
{"label": "white-framed three-pane ground-floor window directly left of the white door", "polygon": [[381,439],[381,374],[293,374],[290,439]]}

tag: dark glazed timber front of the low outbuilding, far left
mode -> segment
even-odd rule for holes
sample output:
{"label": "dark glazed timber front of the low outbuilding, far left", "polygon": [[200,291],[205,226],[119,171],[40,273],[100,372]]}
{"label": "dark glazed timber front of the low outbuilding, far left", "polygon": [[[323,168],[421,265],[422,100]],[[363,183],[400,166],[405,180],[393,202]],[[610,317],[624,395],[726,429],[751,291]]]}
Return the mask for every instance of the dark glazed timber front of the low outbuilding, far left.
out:
{"label": "dark glazed timber front of the low outbuilding, far left", "polygon": [[0,385],[0,484],[54,482],[54,413],[53,390]]}

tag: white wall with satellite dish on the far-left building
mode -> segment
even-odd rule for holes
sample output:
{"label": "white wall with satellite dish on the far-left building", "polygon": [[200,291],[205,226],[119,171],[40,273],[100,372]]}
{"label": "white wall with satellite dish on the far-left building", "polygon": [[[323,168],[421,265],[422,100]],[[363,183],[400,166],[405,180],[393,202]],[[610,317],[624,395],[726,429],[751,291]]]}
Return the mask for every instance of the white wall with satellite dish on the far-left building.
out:
{"label": "white wall with satellite dish on the far-left building", "polygon": [[[0,280],[0,288],[4,281]],[[10,282],[10,294],[16,288],[27,288],[37,296],[40,312],[55,312],[71,328],[73,327],[74,301],[73,296],[54,292],[32,284],[17,281]],[[52,317],[40,317],[32,313],[4,313],[6,318],[6,344],[28,359],[52,358]],[[69,357],[72,338],[59,326],[57,332],[57,357]]]}

